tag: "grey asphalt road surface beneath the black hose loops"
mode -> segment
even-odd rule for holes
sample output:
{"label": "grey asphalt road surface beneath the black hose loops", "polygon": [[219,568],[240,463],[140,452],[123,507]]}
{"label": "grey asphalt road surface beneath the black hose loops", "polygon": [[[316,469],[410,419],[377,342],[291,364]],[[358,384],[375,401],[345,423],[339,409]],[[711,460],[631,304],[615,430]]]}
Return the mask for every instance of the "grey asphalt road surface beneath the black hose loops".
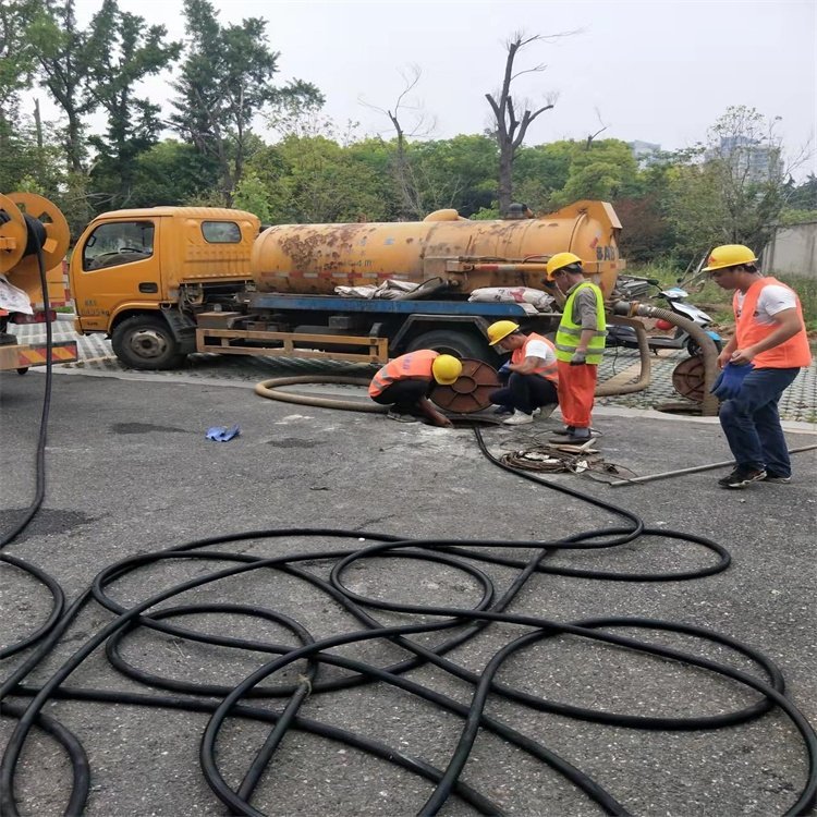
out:
{"label": "grey asphalt road surface beneath the black hose loops", "polygon": [[[98,374],[98,373],[97,373]],[[0,380],[3,451],[2,526],[9,531],[35,489],[35,451],[45,377]],[[230,442],[206,439],[212,426],[239,424]],[[654,474],[729,458],[717,422],[670,418],[650,412],[603,408],[597,413],[599,449],[619,473]],[[516,431],[484,430],[491,451],[529,449],[559,427],[558,415]],[[791,426],[792,447],[817,442],[807,427]],[[706,569],[717,554],[695,541],[650,534],[623,545],[551,549],[507,613],[540,620],[546,632],[594,618],[646,618],[704,627],[758,650],[780,668],[789,700],[817,723],[815,671],[815,452],[795,455],[791,485],[718,489],[725,470],[707,471],[638,486],[610,488],[573,474],[548,476],[556,486],[625,508],[649,528],[707,537],[732,557],[729,568],[690,581],[602,581],[570,571],[667,574]],[[58,375],[48,426],[46,499],[26,531],[4,553],[47,571],[69,602],[94,577],[130,557],[176,548],[205,537],[233,536],[208,552],[253,558],[314,553],[303,570],[327,580],[336,552],[365,548],[373,534],[401,539],[472,542],[460,562],[369,558],[342,574],[351,592],[408,606],[471,609],[484,595],[477,568],[498,595],[521,569],[477,556],[514,559],[541,556],[533,542],[564,541],[597,528],[630,529],[632,519],[580,496],[534,485],[491,464],[466,428],[443,430],[392,423],[382,416],[294,406],[261,399],[252,382],[160,376]],[[626,471],[625,471],[626,470]],[[303,528],[322,531],[312,536]],[[327,528],[344,529],[339,538]],[[260,532],[285,531],[265,536]],[[601,541],[590,539],[588,541]],[[526,542],[527,547],[519,542]],[[234,565],[225,557],[157,559],[123,572],[109,594],[132,608],[176,583]],[[290,563],[294,564],[294,563]],[[562,571],[561,573],[559,571]],[[48,615],[49,594],[9,563],[0,564],[0,642],[34,632]],[[185,590],[158,603],[245,605],[278,611],[316,639],[362,627],[338,595],[289,570],[253,570]],[[429,611],[367,608],[388,624],[440,621]],[[115,615],[89,601],[48,656],[25,679],[28,692],[46,684]],[[546,624],[545,622],[548,622]],[[260,642],[297,644],[282,623],[237,608],[198,611],[178,624],[198,632]],[[632,622],[631,622],[632,623]],[[481,673],[498,650],[536,627],[493,623],[447,654],[456,671]],[[619,624],[607,633],[693,653],[767,683],[757,663],[723,643]],[[414,636],[435,645],[448,635]],[[244,643],[242,646],[247,646]],[[337,647],[333,654],[386,667],[410,654],[383,639]],[[87,753],[90,791],[84,814],[221,815],[224,806],[208,785],[199,746],[209,716],[158,706],[135,706],[124,693],[169,693],[160,678],[230,688],[275,658],[269,653],[214,646],[141,629],[121,654],[148,678],[138,682],[114,669],[101,648],[90,651],[63,682],[69,690],[113,691],[112,699],[54,696],[44,712],[81,742]],[[5,659],[9,679],[29,655]],[[449,669],[451,669],[449,667]],[[303,660],[263,685],[305,684]],[[462,718],[393,685],[378,682],[324,692],[327,679],[350,669],[326,666],[300,715],[381,742],[386,754],[423,758],[444,769],[455,751]],[[444,668],[424,666],[405,678],[468,705],[474,687]],[[558,635],[514,653],[499,669],[507,687],[575,707],[644,718],[706,718],[741,710],[756,692],[722,674],[577,635]],[[16,690],[15,693],[20,693]],[[227,692],[204,696],[220,702]],[[119,696],[119,699],[118,699]],[[75,697],[75,695],[74,695]],[[24,705],[31,694],[12,694]],[[249,706],[279,711],[280,698],[253,698]],[[721,729],[639,729],[541,710],[491,694],[486,712],[590,776],[635,815],[784,814],[806,784],[804,740],[779,709]],[[15,719],[0,720],[5,746]],[[230,718],[218,731],[220,773],[237,789],[264,743],[269,724]],[[25,742],[14,792],[21,814],[61,814],[71,791],[65,751],[35,729]],[[479,730],[462,780],[495,807],[516,815],[594,815],[600,806],[531,752],[508,737]],[[411,815],[434,785],[336,739],[289,732],[252,803],[269,815]],[[452,795],[441,814],[472,815],[474,805]],[[3,812],[5,814],[5,812]]]}

